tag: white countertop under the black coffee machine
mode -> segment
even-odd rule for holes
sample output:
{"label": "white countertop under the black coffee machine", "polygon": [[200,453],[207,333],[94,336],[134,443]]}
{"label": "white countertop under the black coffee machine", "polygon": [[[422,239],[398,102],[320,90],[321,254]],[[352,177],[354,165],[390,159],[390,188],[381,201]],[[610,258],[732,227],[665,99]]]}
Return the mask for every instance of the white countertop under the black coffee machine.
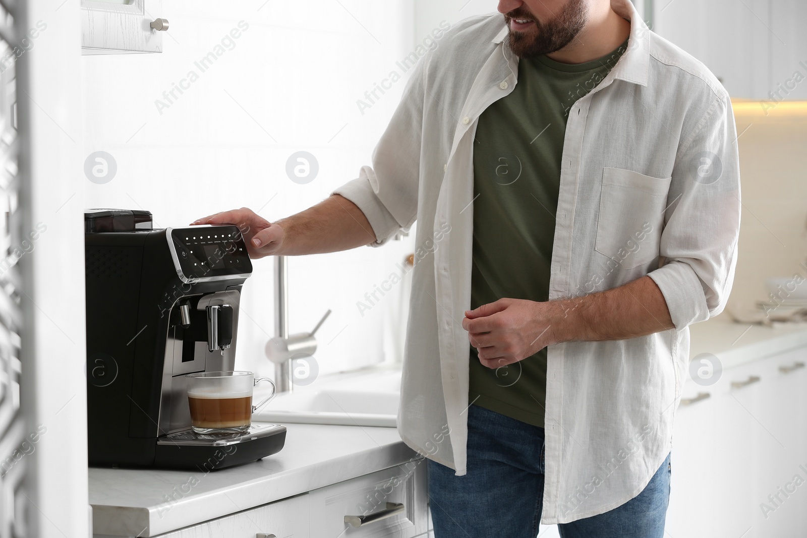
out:
{"label": "white countertop under the black coffee machine", "polygon": [[211,473],[90,467],[94,534],[155,536],[388,469],[415,455],[392,427],[286,428],[279,453]]}

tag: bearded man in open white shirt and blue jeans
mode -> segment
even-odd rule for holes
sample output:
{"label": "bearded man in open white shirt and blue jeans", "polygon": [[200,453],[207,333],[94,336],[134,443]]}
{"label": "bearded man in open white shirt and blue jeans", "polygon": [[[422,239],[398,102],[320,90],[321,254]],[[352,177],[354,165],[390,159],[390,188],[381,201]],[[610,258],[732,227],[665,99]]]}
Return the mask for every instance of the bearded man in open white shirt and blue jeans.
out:
{"label": "bearded man in open white shirt and blue jeans", "polygon": [[[418,221],[398,419],[435,536],[663,536],[688,325],[736,262],[729,97],[628,0],[500,0],[412,75],[373,166],[253,257]],[[470,342],[470,346],[469,346]]]}

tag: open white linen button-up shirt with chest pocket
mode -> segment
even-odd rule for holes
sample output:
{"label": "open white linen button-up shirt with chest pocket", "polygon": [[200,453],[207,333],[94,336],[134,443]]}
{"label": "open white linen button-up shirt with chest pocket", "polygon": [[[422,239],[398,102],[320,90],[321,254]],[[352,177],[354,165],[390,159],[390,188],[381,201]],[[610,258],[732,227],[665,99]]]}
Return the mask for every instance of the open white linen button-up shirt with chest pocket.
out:
{"label": "open white linen button-up shirt with chest pocket", "polygon": [[[723,309],[737,256],[729,96],[704,65],[649,31],[628,0],[612,6],[631,21],[628,49],[569,111],[550,300],[650,275],[675,329],[549,347],[545,524],[618,507],[659,469],[688,371],[688,325]],[[454,25],[416,67],[373,166],[334,191],[366,215],[376,244],[418,221],[398,429],[458,475],[470,403],[461,321],[470,307],[473,140],[479,115],[518,82],[506,38],[499,14]]]}

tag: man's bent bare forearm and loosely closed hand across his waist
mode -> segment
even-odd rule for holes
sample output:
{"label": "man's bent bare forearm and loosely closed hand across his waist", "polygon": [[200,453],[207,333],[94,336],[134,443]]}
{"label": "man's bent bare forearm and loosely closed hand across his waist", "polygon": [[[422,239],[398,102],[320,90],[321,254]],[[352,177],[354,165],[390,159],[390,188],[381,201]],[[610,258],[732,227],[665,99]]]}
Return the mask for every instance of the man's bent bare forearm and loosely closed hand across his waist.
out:
{"label": "man's bent bare forearm and loosely closed hand across his waist", "polygon": [[650,277],[583,297],[550,302],[504,298],[466,311],[462,327],[479,361],[498,368],[570,340],[625,340],[674,327]]}

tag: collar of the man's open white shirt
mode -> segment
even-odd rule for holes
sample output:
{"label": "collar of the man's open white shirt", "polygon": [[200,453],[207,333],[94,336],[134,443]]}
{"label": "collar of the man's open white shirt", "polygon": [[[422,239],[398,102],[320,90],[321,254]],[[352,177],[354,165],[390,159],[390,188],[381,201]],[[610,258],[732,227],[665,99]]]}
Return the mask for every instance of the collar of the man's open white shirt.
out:
{"label": "collar of the man's open white shirt", "polygon": [[[629,0],[611,0],[611,8],[623,19],[630,21],[628,50],[622,55],[612,69],[613,77],[638,85],[647,85],[647,69],[650,65],[650,29],[638,14],[633,2]],[[508,27],[493,38],[493,43],[500,44],[508,36]]]}

